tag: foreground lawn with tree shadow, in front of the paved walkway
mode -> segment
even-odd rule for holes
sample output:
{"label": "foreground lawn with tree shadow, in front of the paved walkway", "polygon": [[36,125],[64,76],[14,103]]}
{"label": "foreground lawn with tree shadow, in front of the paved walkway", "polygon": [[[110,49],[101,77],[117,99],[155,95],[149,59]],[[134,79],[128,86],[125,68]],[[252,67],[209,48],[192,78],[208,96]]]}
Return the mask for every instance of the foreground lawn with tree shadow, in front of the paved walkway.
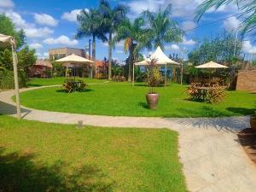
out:
{"label": "foreground lawn with tree shadow, in front of the paved walkway", "polygon": [[177,132],[0,115],[0,191],[186,191]]}

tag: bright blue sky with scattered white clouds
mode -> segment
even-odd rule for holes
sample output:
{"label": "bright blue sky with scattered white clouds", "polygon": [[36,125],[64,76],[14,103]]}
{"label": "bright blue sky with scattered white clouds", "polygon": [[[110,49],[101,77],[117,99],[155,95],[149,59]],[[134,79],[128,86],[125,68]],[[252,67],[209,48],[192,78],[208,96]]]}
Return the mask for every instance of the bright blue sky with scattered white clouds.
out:
{"label": "bright blue sky with scattered white clouds", "polygon": [[[196,26],[203,26],[213,20],[236,15],[236,5],[230,4],[218,10],[210,10],[204,15],[199,23],[194,19],[195,8],[202,0],[110,0],[114,6],[124,3],[130,7],[128,16],[133,19],[140,15],[143,10],[157,11],[165,9],[168,3],[172,4],[172,19],[177,20],[183,30],[189,30]],[[90,9],[98,6],[99,1],[89,0],[0,0],[0,13],[5,13],[14,22],[17,29],[24,28],[26,31],[27,44],[37,49],[38,57],[47,57],[48,49],[58,47],[84,48],[88,46],[89,38],[81,40],[73,39],[77,30],[76,15],[80,9]],[[186,32],[183,42],[179,44],[166,44],[166,54],[177,53],[186,58],[189,49],[193,49],[201,38],[214,36],[218,32],[236,31],[240,20],[235,16],[227,20],[221,20],[213,25],[200,27],[191,32]],[[243,43],[243,50],[247,54],[255,54],[256,46],[250,38]],[[153,51],[153,50],[151,50]],[[144,50],[148,55],[150,50]],[[108,46],[100,40],[96,42],[96,58],[108,57]],[[113,57],[124,61],[127,55],[123,51],[123,43],[116,45]]]}

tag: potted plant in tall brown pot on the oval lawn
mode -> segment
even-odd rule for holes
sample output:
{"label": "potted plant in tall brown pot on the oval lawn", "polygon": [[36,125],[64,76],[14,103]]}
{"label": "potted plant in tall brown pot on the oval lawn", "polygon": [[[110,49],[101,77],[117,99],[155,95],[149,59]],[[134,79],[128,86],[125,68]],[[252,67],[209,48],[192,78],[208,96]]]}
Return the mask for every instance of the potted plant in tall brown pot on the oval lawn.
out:
{"label": "potted plant in tall brown pot on the oval lawn", "polygon": [[159,94],[154,91],[154,87],[160,86],[163,77],[155,66],[156,60],[148,61],[148,72],[146,74],[146,82],[148,84],[148,94],[146,95],[148,108],[156,109],[159,100]]}

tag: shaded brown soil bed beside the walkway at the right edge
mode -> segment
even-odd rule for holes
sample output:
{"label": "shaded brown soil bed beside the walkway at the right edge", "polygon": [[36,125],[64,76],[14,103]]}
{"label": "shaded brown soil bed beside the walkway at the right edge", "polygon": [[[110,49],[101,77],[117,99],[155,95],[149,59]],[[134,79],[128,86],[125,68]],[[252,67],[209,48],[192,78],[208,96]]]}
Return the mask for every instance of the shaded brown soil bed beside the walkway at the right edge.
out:
{"label": "shaded brown soil bed beside the walkway at the right edge", "polygon": [[256,131],[244,129],[237,136],[249,158],[256,163]]}

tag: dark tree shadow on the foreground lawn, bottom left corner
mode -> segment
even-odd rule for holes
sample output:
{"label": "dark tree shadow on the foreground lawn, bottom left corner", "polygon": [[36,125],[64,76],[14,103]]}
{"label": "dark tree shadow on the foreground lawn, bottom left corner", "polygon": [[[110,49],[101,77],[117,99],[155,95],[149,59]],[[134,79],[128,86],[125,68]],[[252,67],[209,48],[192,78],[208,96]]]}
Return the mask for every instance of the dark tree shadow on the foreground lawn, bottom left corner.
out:
{"label": "dark tree shadow on the foreground lawn, bottom left corner", "polygon": [[113,182],[95,165],[64,172],[63,162],[52,166],[33,162],[34,154],[4,153],[0,148],[0,191],[2,192],[90,192],[113,191]]}

